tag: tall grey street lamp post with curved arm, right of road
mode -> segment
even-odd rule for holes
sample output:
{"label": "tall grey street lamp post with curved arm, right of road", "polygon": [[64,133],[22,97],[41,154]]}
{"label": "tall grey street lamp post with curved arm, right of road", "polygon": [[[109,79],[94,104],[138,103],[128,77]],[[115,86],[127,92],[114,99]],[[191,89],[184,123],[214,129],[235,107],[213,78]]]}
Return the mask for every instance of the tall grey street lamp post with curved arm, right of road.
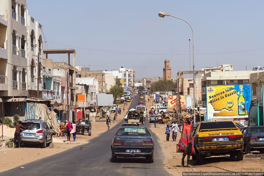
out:
{"label": "tall grey street lamp post with curved arm, right of road", "polygon": [[[183,20],[183,21],[188,23],[188,21],[186,21],[186,20],[184,20],[182,18],[179,18],[179,17],[176,17],[176,16],[172,16],[170,14],[166,14],[165,12],[159,12],[158,16],[162,17],[162,18],[164,18],[165,16],[171,16],[171,17],[178,18],[178,19]],[[190,23],[188,23],[188,24],[189,24],[189,26],[192,29],[191,24]],[[192,58],[193,58],[193,74],[194,74],[194,31],[193,30],[192,30]],[[195,124],[195,74],[194,74],[194,124]]]}

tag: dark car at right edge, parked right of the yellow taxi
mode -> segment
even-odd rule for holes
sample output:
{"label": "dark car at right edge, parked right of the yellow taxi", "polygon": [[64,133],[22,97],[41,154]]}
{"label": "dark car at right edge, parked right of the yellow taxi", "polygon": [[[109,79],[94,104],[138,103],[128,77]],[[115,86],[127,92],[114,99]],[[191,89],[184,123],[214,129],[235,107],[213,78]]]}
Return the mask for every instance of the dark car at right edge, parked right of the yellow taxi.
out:
{"label": "dark car at right edge, parked right of the yellow taxi", "polygon": [[246,154],[254,150],[264,153],[264,126],[248,126],[243,128],[241,132]]}

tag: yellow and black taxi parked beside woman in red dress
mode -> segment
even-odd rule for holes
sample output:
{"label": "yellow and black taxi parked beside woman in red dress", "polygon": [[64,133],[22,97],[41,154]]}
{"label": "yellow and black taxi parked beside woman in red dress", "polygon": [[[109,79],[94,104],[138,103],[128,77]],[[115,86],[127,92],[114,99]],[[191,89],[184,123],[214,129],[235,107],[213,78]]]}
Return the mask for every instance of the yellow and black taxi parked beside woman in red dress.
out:
{"label": "yellow and black taxi parked beside woman in red dress", "polygon": [[209,156],[230,155],[243,160],[243,135],[231,121],[201,122],[193,132],[193,159],[197,164]]}

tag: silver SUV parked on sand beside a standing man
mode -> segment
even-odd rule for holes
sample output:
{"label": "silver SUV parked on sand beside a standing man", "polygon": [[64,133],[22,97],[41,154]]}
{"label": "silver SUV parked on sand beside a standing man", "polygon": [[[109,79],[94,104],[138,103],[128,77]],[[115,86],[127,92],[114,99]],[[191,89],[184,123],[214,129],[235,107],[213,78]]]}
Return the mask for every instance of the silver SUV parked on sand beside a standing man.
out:
{"label": "silver SUV parked on sand beside a standing man", "polygon": [[52,143],[52,127],[49,127],[43,120],[24,120],[21,123],[24,127],[32,126],[29,129],[20,129],[22,144],[40,144],[41,148],[46,148]]}

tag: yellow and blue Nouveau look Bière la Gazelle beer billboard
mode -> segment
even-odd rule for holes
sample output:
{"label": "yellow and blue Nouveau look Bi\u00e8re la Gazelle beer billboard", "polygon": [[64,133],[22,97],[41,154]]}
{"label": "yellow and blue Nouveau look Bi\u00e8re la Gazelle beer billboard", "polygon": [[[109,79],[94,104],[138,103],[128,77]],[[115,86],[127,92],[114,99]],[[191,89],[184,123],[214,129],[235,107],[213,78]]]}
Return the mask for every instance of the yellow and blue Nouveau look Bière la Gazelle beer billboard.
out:
{"label": "yellow and blue Nouveau look Bi\u00e8re la Gazelle beer billboard", "polygon": [[206,111],[208,121],[216,118],[248,118],[251,86],[206,86]]}

